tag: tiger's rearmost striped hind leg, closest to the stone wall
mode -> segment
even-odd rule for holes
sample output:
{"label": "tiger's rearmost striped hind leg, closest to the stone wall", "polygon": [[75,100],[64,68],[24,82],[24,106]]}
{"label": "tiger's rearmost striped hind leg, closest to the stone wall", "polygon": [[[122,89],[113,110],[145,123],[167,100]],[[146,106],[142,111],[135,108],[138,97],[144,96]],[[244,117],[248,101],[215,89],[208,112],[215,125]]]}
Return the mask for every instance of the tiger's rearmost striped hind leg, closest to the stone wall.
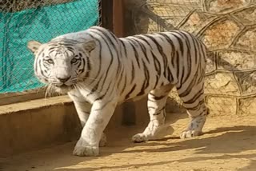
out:
{"label": "tiger's rearmost striped hind leg, closest to the stone wall", "polygon": [[180,137],[195,137],[202,134],[202,127],[206,122],[208,109],[204,100],[204,83],[189,86],[186,90],[178,89],[178,95],[190,117],[190,123],[180,134]]}

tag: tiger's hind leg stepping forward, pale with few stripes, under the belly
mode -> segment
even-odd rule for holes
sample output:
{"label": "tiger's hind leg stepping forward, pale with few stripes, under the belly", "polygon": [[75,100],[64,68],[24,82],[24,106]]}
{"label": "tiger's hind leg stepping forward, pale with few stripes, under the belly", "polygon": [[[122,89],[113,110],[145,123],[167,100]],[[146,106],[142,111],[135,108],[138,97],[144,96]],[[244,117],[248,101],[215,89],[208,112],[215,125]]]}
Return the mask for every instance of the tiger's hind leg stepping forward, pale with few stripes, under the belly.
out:
{"label": "tiger's hind leg stepping forward, pale with few stripes, under the belly", "polygon": [[166,117],[166,100],[173,85],[164,85],[159,89],[150,91],[148,95],[148,111],[150,114],[150,123],[143,133],[137,133],[132,137],[134,142],[143,142],[158,139],[165,124]]}

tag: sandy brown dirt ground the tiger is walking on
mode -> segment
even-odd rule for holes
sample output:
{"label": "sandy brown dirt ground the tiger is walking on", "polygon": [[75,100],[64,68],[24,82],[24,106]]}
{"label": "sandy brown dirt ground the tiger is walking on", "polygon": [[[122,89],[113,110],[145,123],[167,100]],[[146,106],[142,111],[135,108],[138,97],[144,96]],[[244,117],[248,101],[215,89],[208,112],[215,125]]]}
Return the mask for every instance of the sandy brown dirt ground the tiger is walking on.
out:
{"label": "sandy brown dirt ground the tiger is walking on", "polygon": [[[201,137],[181,140],[178,134],[188,121],[184,114],[170,114],[174,133],[161,141],[133,144],[130,137],[142,127],[107,131],[108,145],[100,157],[75,157],[75,142],[0,161],[2,171],[48,170],[256,170],[256,117],[210,116]],[[172,129],[173,128],[173,129]]]}

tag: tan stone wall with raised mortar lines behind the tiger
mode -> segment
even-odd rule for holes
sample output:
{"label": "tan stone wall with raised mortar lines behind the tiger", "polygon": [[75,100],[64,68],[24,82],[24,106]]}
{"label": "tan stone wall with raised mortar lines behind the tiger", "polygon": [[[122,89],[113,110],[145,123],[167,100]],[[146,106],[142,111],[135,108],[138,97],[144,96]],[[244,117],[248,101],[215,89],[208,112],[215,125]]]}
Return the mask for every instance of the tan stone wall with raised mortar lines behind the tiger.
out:
{"label": "tan stone wall with raised mortar lines behind the tiger", "polygon": [[211,114],[256,114],[255,0],[127,0],[126,8],[126,34],[178,29],[206,44]]}

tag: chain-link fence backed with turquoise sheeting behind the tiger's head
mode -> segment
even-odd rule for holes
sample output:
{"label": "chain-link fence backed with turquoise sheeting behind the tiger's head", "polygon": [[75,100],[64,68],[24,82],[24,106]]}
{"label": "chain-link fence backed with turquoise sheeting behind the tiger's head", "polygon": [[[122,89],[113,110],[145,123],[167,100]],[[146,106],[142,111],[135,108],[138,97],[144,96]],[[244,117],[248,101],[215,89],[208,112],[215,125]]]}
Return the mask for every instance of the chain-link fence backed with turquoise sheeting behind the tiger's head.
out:
{"label": "chain-link fence backed with turquoise sheeting behind the tiger's head", "polygon": [[1,0],[0,93],[41,87],[34,78],[29,40],[48,42],[60,34],[99,24],[98,0]]}

